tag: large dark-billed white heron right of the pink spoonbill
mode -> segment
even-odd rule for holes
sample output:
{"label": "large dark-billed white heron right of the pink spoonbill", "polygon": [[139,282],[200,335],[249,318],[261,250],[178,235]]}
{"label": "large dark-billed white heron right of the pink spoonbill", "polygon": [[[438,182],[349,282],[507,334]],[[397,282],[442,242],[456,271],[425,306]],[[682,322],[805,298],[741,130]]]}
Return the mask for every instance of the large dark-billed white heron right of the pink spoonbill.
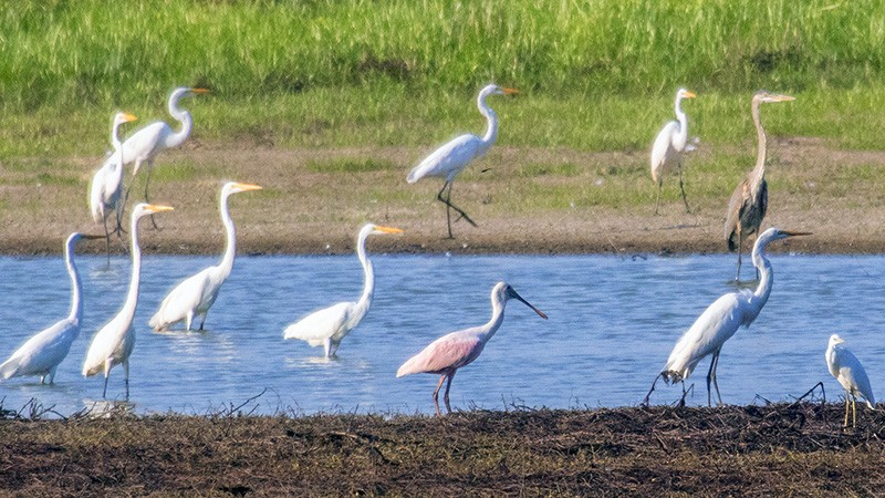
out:
{"label": "large dark-billed white heron right of the pink spoonbill", "polygon": [[[735,332],[741,325],[743,328],[750,326],[759,315],[759,312],[762,311],[762,307],[766,305],[771,293],[774,271],[766,258],[766,247],[774,240],[803,235],[810,234],[769,228],[757,238],[753,246],[753,264],[759,269],[762,278],[756,291],[743,289],[739,292],[725,294],[698,317],[691,328],[679,338],[676,346],[674,346],[667,364],[664,365],[664,370],[652,383],[652,388],[643,402],[644,405],[648,405],[649,396],[655,391],[655,384],[660,377],[670,383],[681,382],[683,392],[685,393],[685,380],[691,375],[698,363],[709,355],[712,355],[712,360],[710,360],[710,370],[707,373],[707,404],[712,405],[710,398],[711,382],[716,387],[718,404],[722,404],[719,384],[716,382],[716,367],[719,364],[719,353],[722,351],[722,344],[735,335]],[[683,397],[684,401],[685,397]]]}

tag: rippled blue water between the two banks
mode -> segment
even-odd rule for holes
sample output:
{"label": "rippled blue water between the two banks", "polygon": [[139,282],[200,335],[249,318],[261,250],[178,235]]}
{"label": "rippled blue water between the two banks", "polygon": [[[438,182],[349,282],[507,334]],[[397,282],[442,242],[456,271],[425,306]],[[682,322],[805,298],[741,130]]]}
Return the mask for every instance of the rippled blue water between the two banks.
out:
{"label": "rippled blue water between the two banks", "polygon": [[[542,320],[511,301],[482,355],[460,370],[452,406],[469,408],[615,407],[638,404],[677,338],[720,294],[733,291],[730,256],[372,256],[375,301],[336,360],[322,347],[283,341],[287,324],[320,307],[355,300],[354,256],[240,257],[209,313],[206,333],[154,333],[147,326],[165,293],[216,258],[147,256],[135,319],[128,407],[136,413],[433,413],[435,375],[396,378],[397,367],[444,333],[481,324],[489,292],[510,282],[543,310]],[[38,377],[0,384],[6,408],[35,400],[66,415],[101,401],[102,377],[80,374],[92,335],[123,303],[128,260],[77,258],[84,280],[81,336],[55,384]],[[729,404],[788,401],[819,381],[827,398],[841,387],[824,362],[840,333],[885,395],[885,257],[771,257],[774,287],[757,322],[722,349],[718,377]],[[746,276],[750,276],[750,269]],[[60,257],[0,258],[0,360],[67,314],[70,283]],[[705,360],[691,377],[693,405],[706,405]],[[267,391],[264,391],[267,390]],[[653,403],[673,403],[678,386],[658,383]],[[108,398],[124,397],[123,370]],[[101,406],[98,406],[101,407]]]}

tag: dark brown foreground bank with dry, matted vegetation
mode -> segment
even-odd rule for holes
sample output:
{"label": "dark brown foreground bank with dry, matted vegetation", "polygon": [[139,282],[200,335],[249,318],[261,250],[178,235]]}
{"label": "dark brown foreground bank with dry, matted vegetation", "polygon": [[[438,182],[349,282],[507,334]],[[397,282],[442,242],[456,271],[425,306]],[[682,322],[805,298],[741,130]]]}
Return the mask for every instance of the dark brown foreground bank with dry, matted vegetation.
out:
{"label": "dark brown foreground bank with dry, matted vegetation", "polygon": [[1,421],[20,495],[855,496],[881,412],[842,405]]}

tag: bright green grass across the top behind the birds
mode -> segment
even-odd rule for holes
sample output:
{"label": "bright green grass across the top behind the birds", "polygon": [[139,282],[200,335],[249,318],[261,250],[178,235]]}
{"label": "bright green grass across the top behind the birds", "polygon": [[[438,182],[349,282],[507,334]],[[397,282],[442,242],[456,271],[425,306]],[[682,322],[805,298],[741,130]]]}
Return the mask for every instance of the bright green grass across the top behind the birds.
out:
{"label": "bright green grass across the top behind the birds", "polygon": [[[709,143],[752,137],[750,94],[774,134],[882,148],[881,1],[727,0],[14,2],[0,15],[0,157],[96,154],[116,108],[168,120],[180,84],[196,135],[279,146],[433,145],[485,124],[500,143],[645,149],[675,90]],[[135,124],[133,126],[138,126]]]}

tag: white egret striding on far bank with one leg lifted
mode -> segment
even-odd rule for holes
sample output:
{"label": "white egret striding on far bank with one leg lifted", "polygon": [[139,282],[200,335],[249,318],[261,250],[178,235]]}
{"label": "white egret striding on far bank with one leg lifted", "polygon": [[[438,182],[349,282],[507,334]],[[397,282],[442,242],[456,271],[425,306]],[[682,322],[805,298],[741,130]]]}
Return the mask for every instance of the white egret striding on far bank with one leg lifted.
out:
{"label": "white egret striding on far bank with one leg lifted", "polygon": [[[433,154],[427,156],[426,159],[421,160],[419,165],[415,166],[415,168],[413,168],[408,174],[407,181],[409,184],[414,184],[415,181],[428,176],[439,176],[446,178],[446,183],[442,184],[442,188],[439,190],[436,198],[446,205],[446,224],[449,230],[448,238],[450,239],[454,238],[451,235],[452,209],[458,212],[458,218],[456,221],[464,218],[470,225],[475,227],[477,226],[477,224],[473,222],[469,216],[467,216],[467,212],[451,204],[451,183],[455,180],[455,177],[458,175],[458,173],[460,173],[461,169],[464,169],[468,164],[478,157],[482,157],[498,138],[498,116],[486,103],[486,98],[489,95],[508,95],[516,93],[519,93],[519,91],[513,89],[503,89],[493,84],[482,89],[477,97],[477,106],[479,106],[479,112],[486,116],[486,120],[488,121],[486,135],[480,138],[471,133],[464,134],[437,148]],[[445,197],[442,197],[442,193],[446,193]]]}

